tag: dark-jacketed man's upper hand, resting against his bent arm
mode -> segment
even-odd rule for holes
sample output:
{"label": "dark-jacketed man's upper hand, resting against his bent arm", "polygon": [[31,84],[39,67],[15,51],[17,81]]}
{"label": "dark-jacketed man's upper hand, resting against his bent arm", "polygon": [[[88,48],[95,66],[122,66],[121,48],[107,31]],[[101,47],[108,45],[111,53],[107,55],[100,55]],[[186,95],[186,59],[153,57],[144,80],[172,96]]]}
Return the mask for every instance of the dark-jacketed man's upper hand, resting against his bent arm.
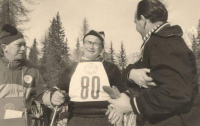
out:
{"label": "dark-jacketed man's upper hand, resting against his bent arm", "polygon": [[149,86],[156,86],[153,79],[147,74],[150,73],[150,69],[132,69],[129,74],[129,79],[133,80],[137,85],[149,88]]}

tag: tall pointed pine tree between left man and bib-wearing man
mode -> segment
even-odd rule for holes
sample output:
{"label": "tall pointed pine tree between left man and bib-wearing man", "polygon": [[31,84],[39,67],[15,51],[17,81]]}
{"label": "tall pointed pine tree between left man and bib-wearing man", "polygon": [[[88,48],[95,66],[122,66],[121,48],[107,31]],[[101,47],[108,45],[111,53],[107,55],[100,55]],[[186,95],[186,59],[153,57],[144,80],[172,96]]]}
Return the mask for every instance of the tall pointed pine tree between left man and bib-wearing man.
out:
{"label": "tall pointed pine tree between left man and bib-wearing man", "polygon": [[51,87],[57,84],[60,74],[70,62],[69,47],[64,38],[64,28],[60,15],[57,13],[56,17],[51,21],[47,36],[43,42],[43,56],[41,59],[43,77]]}

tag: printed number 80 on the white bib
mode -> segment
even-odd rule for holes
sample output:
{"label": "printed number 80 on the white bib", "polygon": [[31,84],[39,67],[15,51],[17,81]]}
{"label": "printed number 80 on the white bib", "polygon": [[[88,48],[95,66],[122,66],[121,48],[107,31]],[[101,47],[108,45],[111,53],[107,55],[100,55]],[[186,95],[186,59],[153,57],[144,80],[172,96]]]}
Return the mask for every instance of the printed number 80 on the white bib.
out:
{"label": "printed number 80 on the white bib", "polygon": [[[88,93],[89,93],[89,77],[83,76],[81,78],[81,98],[82,99],[87,99],[88,98]],[[96,86],[96,91],[95,91],[95,86]],[[93,99],[98,99],[99,98],[99,91],[100,91],[100,78],[98,76],[93,76],[92,77],[92,91],[91,91],[91,97]],[[95,95],[96,94],[96,95]]]}

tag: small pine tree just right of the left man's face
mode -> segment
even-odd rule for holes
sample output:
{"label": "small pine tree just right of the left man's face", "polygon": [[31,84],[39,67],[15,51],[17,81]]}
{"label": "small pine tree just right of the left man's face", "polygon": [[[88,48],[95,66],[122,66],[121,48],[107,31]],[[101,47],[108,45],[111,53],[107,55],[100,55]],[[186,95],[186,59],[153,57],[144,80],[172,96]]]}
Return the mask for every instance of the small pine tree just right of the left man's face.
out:
{"label": "small pine tree just right of the left man's face", "polygon": [[35,65],[36,67],[39,66],[39,58],[38,58],[38,56],[40,54],[39,50],[37,48],[37,45],[38,45],[38,43],[37,43],[36,39],[34,39],[33,45],[32,45],[32,47],[30,49],[30,52],[29,52],[29,61],[33,65]]}

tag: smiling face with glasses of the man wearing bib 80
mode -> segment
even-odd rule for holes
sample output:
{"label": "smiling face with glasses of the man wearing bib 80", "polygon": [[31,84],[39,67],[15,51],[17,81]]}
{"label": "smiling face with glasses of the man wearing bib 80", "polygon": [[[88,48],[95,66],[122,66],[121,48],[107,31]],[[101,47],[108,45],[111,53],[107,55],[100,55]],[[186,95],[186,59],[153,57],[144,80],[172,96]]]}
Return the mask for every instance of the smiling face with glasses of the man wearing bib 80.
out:
{"label": "smiling face with glasses of the man wearing bib 80", "polygon": [[101,40],[93,35],[85,37],[83,42],[83,54],[84,57],[90,60],[96,59],[102,51]]}

